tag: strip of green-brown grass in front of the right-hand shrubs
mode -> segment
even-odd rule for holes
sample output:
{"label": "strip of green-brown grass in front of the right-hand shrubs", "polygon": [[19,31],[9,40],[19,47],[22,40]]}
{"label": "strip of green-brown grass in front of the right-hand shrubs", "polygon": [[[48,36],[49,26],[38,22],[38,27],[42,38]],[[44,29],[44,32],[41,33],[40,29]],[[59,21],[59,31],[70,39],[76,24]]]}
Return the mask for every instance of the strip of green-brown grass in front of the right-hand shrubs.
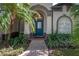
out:
{"label": "strip of green-brown grass in front of the right-hand shrubs", "polygon": [[79,56],[79,48],[54,49],[50,56]]}

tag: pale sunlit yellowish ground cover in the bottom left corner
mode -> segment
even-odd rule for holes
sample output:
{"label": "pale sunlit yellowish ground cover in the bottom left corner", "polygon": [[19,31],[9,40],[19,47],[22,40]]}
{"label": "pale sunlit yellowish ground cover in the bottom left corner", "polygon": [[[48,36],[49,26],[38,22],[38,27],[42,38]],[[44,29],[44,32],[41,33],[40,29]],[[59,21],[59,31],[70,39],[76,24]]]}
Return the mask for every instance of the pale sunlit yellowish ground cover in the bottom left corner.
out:
{"label": "pale sunlit yellowish ground cover in the bottom left corner", "polygon": [[12,47],[9,48],[2,48],[0,49],[0,56],[18,56],[22,52],[24,52],[24,48],[16,48],[13,49]]}

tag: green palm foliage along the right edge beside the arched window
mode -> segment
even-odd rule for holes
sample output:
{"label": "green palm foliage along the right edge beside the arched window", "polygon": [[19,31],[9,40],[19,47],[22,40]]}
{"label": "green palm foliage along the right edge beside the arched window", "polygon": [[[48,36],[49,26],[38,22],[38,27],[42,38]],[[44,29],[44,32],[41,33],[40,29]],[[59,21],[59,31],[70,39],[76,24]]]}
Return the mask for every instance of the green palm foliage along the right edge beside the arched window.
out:
{"label": "green palm foliage along the right edge beside the arched window", "polygon": [[73,42],[79,45],[79,4],[73,4],[70,14],[73,17]]}

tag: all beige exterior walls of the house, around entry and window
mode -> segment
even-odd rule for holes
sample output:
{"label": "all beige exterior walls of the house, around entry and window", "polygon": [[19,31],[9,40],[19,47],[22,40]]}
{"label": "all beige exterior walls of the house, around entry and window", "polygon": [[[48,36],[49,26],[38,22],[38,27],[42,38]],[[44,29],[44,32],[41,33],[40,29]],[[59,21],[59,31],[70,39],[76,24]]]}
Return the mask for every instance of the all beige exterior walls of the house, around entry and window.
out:
{"label": "all beige exterior walls of the house, around entry and window", "polygon": [[[31,5],[32,6],[42,5],[46,7],[48,10],[51,10],[52,3],[31,3]],[[46,34],[52,33],[52,17],[53,17],[53,32],[55,33],[57,29],[57,20],[60,16],[63,16],[64,14],[70,16],[69,13],[67,12],[67,6],[65,5],[63,5],[63,11],[53,11],[53,16],[52,15],[48,16],[46,14],[44,18],[44,33]],[[18,31],[18,30],[14,29],[14,31]],[[30,33],[31,33],[31,28],[29,27],[29,24],[24,23],[24,34],[30,34]]]}

